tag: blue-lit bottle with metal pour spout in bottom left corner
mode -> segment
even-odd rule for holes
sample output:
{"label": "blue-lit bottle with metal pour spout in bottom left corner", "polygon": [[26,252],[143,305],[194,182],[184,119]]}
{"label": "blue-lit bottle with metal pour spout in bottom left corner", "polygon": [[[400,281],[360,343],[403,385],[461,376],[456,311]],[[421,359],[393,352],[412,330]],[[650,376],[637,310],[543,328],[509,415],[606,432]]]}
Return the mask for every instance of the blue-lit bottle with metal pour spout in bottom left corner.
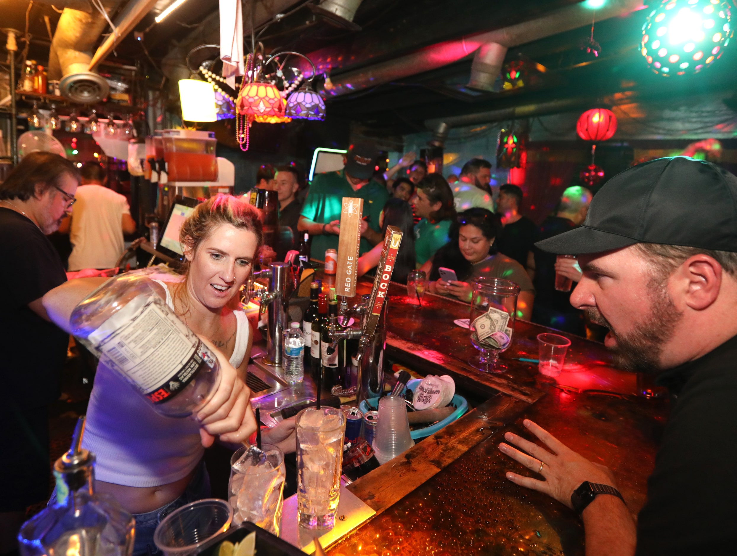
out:
{"label": "blue-lit bottle with metal pour spout in bottom left corner", "polygon": [[94,454],[81,448],[84,418],[71,448],[54,464],[56,500],[23,524],[21,556],[130,556],[136,521],[110,494],[94,490]]}

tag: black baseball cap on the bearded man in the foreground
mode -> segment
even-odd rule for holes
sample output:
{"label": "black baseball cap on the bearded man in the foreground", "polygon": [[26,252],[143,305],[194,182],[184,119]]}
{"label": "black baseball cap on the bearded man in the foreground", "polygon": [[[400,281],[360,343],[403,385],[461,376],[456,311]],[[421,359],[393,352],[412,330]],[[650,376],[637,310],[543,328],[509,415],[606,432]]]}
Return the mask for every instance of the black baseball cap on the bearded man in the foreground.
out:
{"label": "black baseball cap on the bearded man in the foreground", "polygon": [[688,156],[632,166],[598,191],[579,228],[535,245],[581,255],[635,243],[737,252],[737,177]]}

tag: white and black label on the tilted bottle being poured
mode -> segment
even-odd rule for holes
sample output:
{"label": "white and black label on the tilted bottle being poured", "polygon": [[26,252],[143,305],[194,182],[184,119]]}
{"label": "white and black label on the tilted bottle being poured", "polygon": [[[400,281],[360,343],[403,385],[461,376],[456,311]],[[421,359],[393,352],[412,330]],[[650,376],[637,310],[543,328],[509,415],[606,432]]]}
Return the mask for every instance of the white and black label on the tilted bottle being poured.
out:
{"label": "white and black label on the tilted bottle being poured", "polygon": [[90,338],[106,336],[97,345],[103,364],[122,373],[150,401],[158,404],[184,390],[203,363],[214,367],[214,353],[167,307],[152,301],[131,314],[129,306],[135,309],[129,303]]}

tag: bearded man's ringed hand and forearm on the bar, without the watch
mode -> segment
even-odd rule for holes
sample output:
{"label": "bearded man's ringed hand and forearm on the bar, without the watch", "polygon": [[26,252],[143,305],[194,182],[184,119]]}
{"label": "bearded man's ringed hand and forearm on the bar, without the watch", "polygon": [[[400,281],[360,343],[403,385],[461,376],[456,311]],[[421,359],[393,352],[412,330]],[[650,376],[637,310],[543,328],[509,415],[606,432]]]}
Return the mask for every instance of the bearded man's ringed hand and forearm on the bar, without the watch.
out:
{"label": "bearded man's ringed hand and forearm on the bar, without the watch", "polygon": [[[531,420],[525,419],[523,424],[553,453],[517,434],[507,432],[504,435],[505,440],[524,451],[517,450],[506,443],[500,443],[500,451],[526,468],[541,474],[545,479],[540,481],[508,471],[506,478],[511,482],[548,494],[571,509],[573,505],[570,502],[570,496],[573,490],[579,488],[584,481],[617,488],[614,476],[607,467],[590,462],[577,454]],[[542,465],[542,470],[540,469],[541,462],[545,464]],[[587,556],[631,556],[635,554],[637,540],[635,520],[624,502],[616,496],[606,494],[596,496],[581,514],[581,518],[584,520],[586,529]]]}

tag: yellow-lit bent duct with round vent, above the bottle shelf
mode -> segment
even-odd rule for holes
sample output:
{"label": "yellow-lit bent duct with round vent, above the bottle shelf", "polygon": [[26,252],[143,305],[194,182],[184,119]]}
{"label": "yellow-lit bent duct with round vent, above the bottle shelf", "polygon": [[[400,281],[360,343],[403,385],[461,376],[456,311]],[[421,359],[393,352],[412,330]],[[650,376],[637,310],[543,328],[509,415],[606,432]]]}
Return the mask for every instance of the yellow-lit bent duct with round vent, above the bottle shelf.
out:
{"label": "yellow-lit bent duct with round vent, above the bottle shelf", "polygon": [[89,71],[95,44],[108,25],[97,10],[92,13],[64,8],[49,51],[49,80],[60,81],[61,94],[72,102],[99,102],[110,86]]}

